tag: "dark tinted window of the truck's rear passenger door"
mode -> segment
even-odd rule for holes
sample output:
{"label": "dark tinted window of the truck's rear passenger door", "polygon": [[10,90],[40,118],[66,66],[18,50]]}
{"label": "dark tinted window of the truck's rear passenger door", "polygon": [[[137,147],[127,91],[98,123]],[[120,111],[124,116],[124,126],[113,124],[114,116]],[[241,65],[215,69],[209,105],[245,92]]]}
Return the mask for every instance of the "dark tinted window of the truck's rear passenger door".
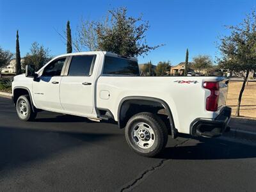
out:
{"label": "dark tinted window of the truck's rear passenger door", "polygon": [[72,56],[68,76],[89,76],[93,55]]}

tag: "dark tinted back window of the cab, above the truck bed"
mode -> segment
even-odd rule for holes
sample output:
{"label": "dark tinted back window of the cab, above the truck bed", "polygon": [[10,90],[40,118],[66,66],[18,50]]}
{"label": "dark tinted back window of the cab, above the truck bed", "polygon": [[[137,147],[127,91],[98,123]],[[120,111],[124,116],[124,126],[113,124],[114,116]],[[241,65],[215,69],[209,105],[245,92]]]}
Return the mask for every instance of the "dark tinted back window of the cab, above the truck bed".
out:
{"label": "dark tinted back window of the cab, above the truck bed", "polygon": [[140,76],[140,71],[137,61],[106,56],[103,74]]}

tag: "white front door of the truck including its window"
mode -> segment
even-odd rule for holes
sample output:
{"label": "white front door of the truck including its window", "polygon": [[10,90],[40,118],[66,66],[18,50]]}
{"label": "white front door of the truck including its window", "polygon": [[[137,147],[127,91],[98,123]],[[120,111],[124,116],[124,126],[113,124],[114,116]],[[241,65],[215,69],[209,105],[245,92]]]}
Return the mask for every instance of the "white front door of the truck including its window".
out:
{"label": "white front door of the truck including its window", "polygon": [[33,81],[33,96],[36,107],[49,111],[62,111],[60,104],[60,81],[66,57],[49,63],[38,81]]}

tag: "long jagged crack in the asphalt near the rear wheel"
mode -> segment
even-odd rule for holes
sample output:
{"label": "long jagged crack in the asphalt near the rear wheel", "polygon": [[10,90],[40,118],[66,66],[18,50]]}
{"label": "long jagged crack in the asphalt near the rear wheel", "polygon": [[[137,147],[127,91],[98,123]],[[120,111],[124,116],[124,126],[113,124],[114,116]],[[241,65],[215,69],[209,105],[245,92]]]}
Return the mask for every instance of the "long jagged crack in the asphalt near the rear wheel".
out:
{"label": "long jagged crack in the asphalt near the rear wheel", "polygon": [[[179,147],[180,145],[183,145],[184,143],[186,143],[187,141],[189,141],[190,138],[188,138],[187,140],[182,141],[181,143],[177,143],[176,145],[173,146],[173,148],[175,147]],[[130,184],[128,184],[127,186],[125,186],[124,188],[120,189],[120,191],[131,191],[131,188],[133,186],[135,186],[136,184],[138,184],[141,180],[143,180],[147,175],[150,175],[152,172],[154,172],[157,169],[160,169],[161,167],[163,167],[163,164],[166,161],[169,161],[170,159],[162,159],[158,164],[152,166],[150,169],[145,170],[145,172],[141,173],[141,175],[139,177],[137,177],[136,179],[134,179]]]}

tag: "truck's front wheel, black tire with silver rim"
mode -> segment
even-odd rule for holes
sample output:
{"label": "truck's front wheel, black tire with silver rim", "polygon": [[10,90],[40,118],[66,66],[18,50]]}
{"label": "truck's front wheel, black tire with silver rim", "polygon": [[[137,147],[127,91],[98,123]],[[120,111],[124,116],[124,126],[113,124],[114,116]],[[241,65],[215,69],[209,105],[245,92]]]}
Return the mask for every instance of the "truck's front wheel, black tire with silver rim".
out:
{"label": "truck's front wheel, black tire with silver rim", "polygon": [[[21,106],[25,106],[22,110]],[[21,95],[16,102],[16,111],[19,119],[22,121],[31,121],[36,117],[36,112],[33,112],[29,95]],[[21,112],[22,111],[22,112]]]}

